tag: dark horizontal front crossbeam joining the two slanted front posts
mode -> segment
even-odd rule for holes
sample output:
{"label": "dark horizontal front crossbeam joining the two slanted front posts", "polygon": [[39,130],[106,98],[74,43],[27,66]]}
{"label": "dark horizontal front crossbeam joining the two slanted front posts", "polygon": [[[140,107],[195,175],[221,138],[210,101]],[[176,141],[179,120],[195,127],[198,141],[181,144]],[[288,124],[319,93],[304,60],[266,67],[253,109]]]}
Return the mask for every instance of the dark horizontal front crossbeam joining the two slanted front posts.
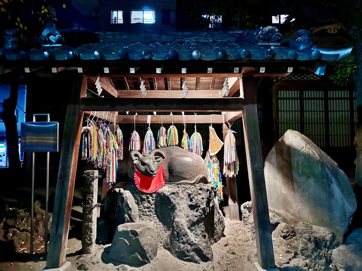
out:
{"label": "dark horizontal front crossbeam joining the two slanted front posts", "polygon": [[[182,92],[182,91],[181,91]],[[83,111],[135,111],[135,112],[221,112],[241,111],[241,98],[145,99],[145,98],[82,98]]]}

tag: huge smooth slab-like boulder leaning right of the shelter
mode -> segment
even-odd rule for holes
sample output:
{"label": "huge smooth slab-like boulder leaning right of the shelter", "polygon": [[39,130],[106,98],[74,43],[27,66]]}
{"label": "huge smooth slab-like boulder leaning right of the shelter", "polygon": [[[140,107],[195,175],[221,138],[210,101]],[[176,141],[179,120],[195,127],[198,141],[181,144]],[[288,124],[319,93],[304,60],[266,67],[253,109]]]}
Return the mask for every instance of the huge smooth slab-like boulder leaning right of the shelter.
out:
{"label": "huge smooth slab-like boulder leaning right of the shelter", "polygon": [[305,221],[343,237],[357,208],[346,174],[309,138],[294,130],[279,139],[264,167],[270,212]]}

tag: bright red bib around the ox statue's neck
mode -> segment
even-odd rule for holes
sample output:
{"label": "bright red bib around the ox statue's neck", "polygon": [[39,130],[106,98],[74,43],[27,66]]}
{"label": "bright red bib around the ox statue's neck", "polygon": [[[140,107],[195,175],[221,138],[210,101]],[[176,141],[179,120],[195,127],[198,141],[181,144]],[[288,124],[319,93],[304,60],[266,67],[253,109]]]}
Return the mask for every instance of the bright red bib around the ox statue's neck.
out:
{"label": "bright red bib around the ox statue's neck", "polygon": [[158,169],[155,177],[149,177],[141,174],[136,167],[135,168],[135,175],[134,180],[137,188],[145,193],[153,193],[162,188],[165,185],[165,168],[162,162],[161,167]]}

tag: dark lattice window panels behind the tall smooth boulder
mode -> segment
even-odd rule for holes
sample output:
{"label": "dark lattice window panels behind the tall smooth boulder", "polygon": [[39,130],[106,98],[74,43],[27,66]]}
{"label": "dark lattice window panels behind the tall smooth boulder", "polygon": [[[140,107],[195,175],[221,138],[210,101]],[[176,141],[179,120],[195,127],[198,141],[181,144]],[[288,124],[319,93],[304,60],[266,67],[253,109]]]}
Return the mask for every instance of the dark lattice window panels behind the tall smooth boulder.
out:
{"label": "dark lattice window panels behind the tall smooth boulder", "polygon": [[355,91],[278,90],[277,104],[279,138],[293,129],[319,147],[352,146],[357,125]]}

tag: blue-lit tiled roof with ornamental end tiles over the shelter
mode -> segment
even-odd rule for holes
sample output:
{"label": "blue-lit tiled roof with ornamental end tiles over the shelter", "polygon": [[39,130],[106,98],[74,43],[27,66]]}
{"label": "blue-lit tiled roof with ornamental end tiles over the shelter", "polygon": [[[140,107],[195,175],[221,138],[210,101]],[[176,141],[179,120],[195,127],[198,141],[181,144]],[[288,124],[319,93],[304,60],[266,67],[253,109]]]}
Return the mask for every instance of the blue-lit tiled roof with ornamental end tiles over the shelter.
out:
{"label": "blue-lit tiled roof with ornamental end tiles over the shelter", "polygon": [[[76,33],[72,33],[72,38]],[[84,36],[84,35],[83,35]],[[0,60],[35,61],[81,61],[133,62],[133,61],[237,61],[237,62],[287,62],[287,61],[335,61],[352,53],[353,47],[328,49],[315,47],[311,31],[299,30],[296,39],[283,39],[279,30],[268,26],[256,30],[244,30],[233,41],[214,42],[93,42],[71,44],[66,34],[48,29],[37,48],[19,50],[13,43],[0,48]],[[92,38],[93,37],[93,38]],[[5,38],[6,40],[6,38]],[[11,39],[10,39],[11,40]],[[68,39],[71,40],[71,39]],[[187,40],[185,38],[185,40]],[[14,42],[14,41],[13,41]]]}

